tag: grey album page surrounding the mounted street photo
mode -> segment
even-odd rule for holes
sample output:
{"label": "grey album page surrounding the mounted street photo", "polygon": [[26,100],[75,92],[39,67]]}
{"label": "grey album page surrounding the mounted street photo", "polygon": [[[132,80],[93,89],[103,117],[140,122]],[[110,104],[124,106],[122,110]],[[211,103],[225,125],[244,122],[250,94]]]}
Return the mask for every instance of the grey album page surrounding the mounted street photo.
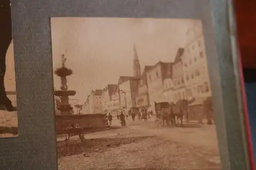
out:
{"label": "grey album page surrounding the mounted street photo", "polygon": [[57,169],[51,17],[201,19],[222,166],[250,169],[236,30],[224,0],[13,1],[19,136],[0,140],[0,169]]}

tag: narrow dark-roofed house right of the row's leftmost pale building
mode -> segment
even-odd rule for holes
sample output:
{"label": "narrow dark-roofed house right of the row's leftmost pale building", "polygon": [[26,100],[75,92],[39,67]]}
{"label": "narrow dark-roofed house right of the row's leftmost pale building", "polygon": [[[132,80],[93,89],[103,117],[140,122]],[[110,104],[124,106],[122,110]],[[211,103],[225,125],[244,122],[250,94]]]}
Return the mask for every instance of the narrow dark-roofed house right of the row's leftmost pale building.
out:
{"label": "narrow dark-roofed house right of the row's leftmost pale building", "polygon": [[113,94],[116,86],[117,86],[116,84],[108,84],[103,89],[103,94],[102,94],[102,109],[103,109],[103,111],[111,110],[112,94]]}

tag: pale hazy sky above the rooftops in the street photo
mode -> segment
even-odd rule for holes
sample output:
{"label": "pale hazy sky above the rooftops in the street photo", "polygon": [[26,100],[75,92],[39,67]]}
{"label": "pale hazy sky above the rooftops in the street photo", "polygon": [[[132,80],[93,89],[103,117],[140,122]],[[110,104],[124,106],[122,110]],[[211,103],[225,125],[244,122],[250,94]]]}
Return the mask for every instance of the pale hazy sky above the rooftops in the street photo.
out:
{"label": "pale hazy sky above the rooftops in the street photo", "polygon": [[[70,99],[83,103],[93,89],[117,84],[119,76],[133,76],[134,45],[141,72],[144,65],[173,62],[193,19],[153,18],[51,18],[53,71],[61,67],[61,54],[74,74],[68,87]],[[54,75],[54,88],[60,78]]]}

